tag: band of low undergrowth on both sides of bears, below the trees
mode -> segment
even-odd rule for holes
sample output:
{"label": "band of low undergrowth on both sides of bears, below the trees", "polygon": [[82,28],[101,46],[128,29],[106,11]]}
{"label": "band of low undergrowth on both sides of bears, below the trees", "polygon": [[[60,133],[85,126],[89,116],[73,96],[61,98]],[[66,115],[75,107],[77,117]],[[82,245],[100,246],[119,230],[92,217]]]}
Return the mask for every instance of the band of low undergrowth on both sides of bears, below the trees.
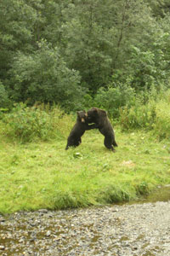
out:
{"label": "band of low undergrowth on both sides of bears, below the trees", "polygon": [[[156,90],[146,90],[135,97],[133,90],[120,85],[99,90],[94,102],[92,98],[84,100],[90,102],[87,109],[92,106],[105,109],[114,125],[120,123],[122,131],[144,129],[153,131],[159,139],[170,137],[170,90],[161,90],[159,94]],[[48,104],[27,107],[20,103],[8,113],[4,110],[0,111],[1,133],[22,143],[37,138],[47,141],[67,137],[73,125],[71,114]]]}

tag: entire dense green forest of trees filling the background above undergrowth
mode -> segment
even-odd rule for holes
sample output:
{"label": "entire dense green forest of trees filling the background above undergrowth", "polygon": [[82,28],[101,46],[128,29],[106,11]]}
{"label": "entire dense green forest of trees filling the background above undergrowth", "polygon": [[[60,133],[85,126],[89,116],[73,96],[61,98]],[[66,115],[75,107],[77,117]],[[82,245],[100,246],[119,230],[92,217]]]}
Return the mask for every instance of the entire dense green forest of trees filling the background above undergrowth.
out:
{"label": "entire dense green forest of trees filling the background above undergrowth", "polygon": [[0,107],[95,102],[116,117],[168,89],[169,13],[168,0],[1,1]]}

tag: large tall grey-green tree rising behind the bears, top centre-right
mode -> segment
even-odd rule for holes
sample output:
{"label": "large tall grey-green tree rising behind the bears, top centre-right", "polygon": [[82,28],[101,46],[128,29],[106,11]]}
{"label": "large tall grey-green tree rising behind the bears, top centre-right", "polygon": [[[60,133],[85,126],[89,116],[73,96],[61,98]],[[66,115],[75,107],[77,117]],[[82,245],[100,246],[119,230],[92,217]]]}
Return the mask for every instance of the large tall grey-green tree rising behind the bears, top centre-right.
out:
{"label": "large tall grey-green tree rising behind the bears, top centre-right", "polygon": [[94,93],[129,65],[131,45],[148,47],[154,40],[156,20],[142,0],[77,0],[62,14],[65,60]]}

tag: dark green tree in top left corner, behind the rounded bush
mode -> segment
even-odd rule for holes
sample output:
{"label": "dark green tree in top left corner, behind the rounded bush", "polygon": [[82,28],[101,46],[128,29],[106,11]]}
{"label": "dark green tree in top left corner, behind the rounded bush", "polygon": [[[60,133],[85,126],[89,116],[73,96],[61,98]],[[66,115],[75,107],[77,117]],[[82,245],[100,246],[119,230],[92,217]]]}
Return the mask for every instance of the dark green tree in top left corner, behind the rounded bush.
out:
{"label": "dark green tree in top left corner, behind the rounded bush", "polygon": [[17,50],[31,50],[33,27],[37,20],[35,9],[24,0],[0,2],[0,79],[5,79]]}

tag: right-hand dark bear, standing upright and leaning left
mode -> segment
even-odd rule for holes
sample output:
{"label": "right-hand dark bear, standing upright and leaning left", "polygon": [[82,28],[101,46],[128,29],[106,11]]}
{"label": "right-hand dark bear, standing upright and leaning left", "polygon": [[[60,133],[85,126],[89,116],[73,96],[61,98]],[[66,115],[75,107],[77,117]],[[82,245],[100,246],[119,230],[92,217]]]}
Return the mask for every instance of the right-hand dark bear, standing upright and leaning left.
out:
{"label": "right-hand dark bear, standing upright and leaning left", "polygon": [[107,113],[103,109],[91,108],[88,110],[88,123],[95,123],[101,134],[105,136],[104,144],[106,148],[115,151],[113,146],[117,147],[115,133]]}

